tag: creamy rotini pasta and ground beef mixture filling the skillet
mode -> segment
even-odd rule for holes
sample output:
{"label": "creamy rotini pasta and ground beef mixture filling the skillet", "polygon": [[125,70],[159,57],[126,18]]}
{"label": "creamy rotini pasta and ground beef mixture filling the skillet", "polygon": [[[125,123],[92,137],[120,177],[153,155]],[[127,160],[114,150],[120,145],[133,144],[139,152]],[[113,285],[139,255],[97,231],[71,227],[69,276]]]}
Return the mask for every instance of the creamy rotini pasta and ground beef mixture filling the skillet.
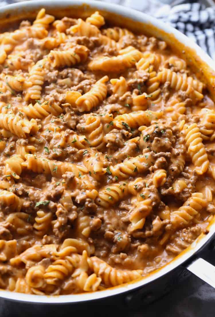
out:
{"label": "creamy rotini pasta and ground beef mixture filling the skillet", "polygon": [[97,11],[0,41],[0,288],[102,290],[207,233],[215,107],[186,58]]}

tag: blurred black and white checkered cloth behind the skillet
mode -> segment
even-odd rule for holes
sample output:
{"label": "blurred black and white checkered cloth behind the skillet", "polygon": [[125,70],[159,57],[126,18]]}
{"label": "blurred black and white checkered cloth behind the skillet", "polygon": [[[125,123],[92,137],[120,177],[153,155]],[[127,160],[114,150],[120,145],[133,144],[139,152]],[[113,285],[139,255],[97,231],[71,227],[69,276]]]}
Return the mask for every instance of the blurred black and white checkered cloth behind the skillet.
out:
{"label": "blurred black and white checkered cloth behind the skillet", "polygon": [[[0,7],[16,1],[20,0],[0,0]],[[194,40],[215,60],[215,5],[206,8],[200,3],[185,3],[171,7],[157,0],[112,0],[111,2],[146,12],[171,24]]]}

